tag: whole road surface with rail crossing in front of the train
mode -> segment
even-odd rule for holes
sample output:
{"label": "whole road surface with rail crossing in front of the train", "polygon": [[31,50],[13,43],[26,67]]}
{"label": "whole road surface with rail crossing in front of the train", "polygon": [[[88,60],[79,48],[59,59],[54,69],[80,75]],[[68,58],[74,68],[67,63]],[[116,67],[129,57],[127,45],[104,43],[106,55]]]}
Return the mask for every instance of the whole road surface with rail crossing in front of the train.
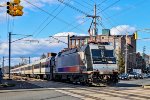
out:
{"label": "whole road surface with rail crossing in front of the train", "polygon": [[120,81],[110,87],[24,81],[23,89],[0,90],[0,100],[150,100],[150,90],[141,87],[144,84],[150,84],[150,79]]}

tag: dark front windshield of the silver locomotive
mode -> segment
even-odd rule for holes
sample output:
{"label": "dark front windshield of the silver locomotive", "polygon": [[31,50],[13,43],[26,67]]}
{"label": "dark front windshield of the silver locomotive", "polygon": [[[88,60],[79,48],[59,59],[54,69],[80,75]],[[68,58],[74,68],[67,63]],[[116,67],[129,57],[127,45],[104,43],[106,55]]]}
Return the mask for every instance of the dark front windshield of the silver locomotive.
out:
{"label": "dark front windshield of the silver locomotive", "polygon": [[93,64],[116,64],[113,50],[92,49]]}

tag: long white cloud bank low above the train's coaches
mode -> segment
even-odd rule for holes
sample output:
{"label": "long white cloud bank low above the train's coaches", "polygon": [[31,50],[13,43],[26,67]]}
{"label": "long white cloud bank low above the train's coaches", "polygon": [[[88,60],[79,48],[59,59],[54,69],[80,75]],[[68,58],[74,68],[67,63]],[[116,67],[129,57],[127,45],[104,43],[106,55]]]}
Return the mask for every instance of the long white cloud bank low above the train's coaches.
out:
{"label": "long white cloud bank low above the train's coaches", "polygon": [[[47,52],[59,52],[67,47],[67,35],[84,35],[74,32],[63,32],[54,35],[54,38],[26,38],[24,40],[12,43],[12,56],[40,56]],[[66,36],[66,37],[60,37]],[[15,40],[15,39],[13,39]],[[28,40],[28,41],[27,41]],[[29,40],[32,40],[30,42]],[[38,40],[38,41],[37,41]],[[64,43],[63,43],[64,42]],[[66,43],[66,44],[65,44]],[[0,44],[0,55],[8,56],[8,43]]]}

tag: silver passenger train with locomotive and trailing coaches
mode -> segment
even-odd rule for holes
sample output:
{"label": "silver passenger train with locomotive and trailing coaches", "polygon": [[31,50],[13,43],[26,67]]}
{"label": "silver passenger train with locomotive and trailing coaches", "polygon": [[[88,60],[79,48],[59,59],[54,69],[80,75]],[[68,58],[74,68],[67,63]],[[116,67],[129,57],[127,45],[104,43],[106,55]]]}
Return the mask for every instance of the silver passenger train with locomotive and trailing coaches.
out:
{"label": "silver passenger train with locomotive and trailing coaches", "polygon": [[88,85],[118,82],[116,54],[109,43],[90,42],[58,54],[52,53],[51,57],[11,69],[11,73]]}

